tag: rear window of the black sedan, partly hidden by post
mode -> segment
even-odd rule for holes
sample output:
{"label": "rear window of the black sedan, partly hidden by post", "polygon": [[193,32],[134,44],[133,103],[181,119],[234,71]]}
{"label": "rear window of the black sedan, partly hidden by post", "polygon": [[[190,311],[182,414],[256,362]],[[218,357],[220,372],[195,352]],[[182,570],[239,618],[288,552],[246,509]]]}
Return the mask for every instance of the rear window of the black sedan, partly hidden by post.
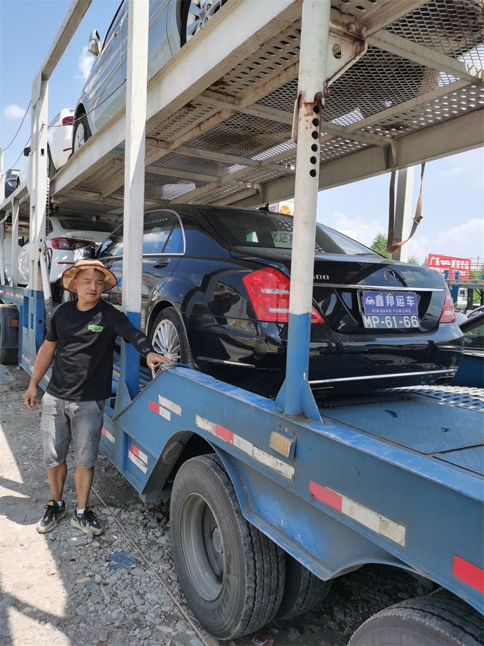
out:
{"label": "rear window of the black sedan, partly hidden by post", "polygon": [[[230,247],[292,249],[292,216],[267,211],[210,213],[210,222]],[[316,253],[378,255],[363,244],[332,228],[317,224]]]}

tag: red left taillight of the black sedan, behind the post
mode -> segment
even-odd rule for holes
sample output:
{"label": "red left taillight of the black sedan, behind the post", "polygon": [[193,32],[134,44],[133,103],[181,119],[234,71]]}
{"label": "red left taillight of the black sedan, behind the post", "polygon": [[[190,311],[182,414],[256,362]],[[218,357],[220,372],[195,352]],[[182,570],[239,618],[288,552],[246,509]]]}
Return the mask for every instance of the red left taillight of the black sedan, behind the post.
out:
{"label": "red left taillight of the black sedan, behind the post", "polygon": [[[281,271],[268,267],[242,278],[258,321],[287,323],[289,320],[290,280]],[[326,323],[313,305],[311,323]]]}

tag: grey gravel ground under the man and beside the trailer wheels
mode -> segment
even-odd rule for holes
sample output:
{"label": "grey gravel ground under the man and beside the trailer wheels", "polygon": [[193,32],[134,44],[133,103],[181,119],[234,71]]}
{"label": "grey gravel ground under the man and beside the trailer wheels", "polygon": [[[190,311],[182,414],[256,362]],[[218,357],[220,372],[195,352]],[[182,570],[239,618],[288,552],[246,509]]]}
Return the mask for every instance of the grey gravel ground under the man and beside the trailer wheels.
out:
{"label": "grey gravel ground under the man and beside the trailer wheels", "polygon": [[[39,412],[28,411],[28,375],[0,366],[0,645],[214,646],[178,588],[169,541],[169,505],[144,505],[100,457],[90,503],[105,532],[80,534],[70,466],[66,519],[47,535],[35,525],[48,500]],[[324,607],[272,622],[231,646],[340,646],[369,616],[420,593],[413,577],[365,566],[336,580]]]}

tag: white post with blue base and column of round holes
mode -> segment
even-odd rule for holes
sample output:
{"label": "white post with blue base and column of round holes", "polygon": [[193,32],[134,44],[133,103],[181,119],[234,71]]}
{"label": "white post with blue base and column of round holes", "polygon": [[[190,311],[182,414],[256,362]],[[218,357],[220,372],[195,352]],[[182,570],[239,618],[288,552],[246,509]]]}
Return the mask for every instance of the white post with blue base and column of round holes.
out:
{"label": "white post with blue base and column of round holes", "polygon": [[308,384],[310,316],[319,181],[319,138],[328,57],[330,0],[304,0],[299,55],[295,218],[292,237],[286,381],[277,403],[286,415],[318,418]]}

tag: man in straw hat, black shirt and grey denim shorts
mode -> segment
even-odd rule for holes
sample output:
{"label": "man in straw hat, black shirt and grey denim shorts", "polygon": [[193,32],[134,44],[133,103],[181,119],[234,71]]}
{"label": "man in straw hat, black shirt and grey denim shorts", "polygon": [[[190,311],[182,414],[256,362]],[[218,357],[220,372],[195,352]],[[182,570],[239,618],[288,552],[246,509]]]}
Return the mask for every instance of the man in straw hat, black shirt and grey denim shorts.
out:
{"label": "man in straw hat, black shirt and grey denim shorts", "polygon": [[37,385],[54,360],[52,376],[42,398],[41,433],[44,465],[52,498],[37,524],[46,534],[66,515],[62,499],[67,475],[66,458],[73,442],[77,509],[71,525],[84,534],[102,534],[102,525],[88,507],[94,466],[101,438],[104,400],[111,396],[115,339],[129,341],[145,357],[148,367],[169,359],[153,350],[148,337],[127,316],[101,299],[117,284],[114,274],[99,260],[80,260],[66,269],[62,287],[77,300],[62,303],[53,312],[24,395],[29,409],[36,405]]}

